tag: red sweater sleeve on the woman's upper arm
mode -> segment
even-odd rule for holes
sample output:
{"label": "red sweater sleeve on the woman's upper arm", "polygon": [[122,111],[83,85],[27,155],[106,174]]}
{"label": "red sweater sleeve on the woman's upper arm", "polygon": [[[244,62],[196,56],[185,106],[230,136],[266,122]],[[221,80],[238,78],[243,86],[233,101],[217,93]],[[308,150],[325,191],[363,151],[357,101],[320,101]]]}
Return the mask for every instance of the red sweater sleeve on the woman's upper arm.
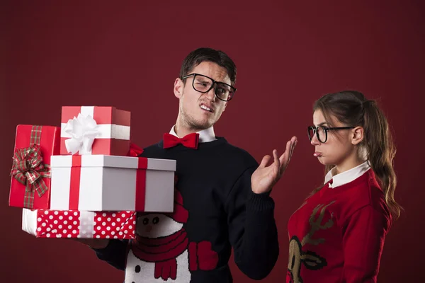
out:
{"label": "red sweater sleeve on the woman's upper arm", "polygon": [[387,214],[370,205],[350,216],[344,231],[344,282],[376,282],[385,235]]}

